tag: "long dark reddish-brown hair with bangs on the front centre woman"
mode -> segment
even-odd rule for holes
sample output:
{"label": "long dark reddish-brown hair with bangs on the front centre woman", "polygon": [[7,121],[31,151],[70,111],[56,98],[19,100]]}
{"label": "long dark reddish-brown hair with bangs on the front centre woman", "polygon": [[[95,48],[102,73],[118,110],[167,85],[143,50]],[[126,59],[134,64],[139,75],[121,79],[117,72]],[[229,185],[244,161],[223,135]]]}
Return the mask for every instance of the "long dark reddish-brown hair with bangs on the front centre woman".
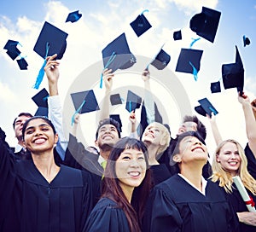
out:
{"label": "long dark reddish-brown hair with bangs on the front centre woman", "polygon": [[[143,182],[138,187],[134,188],[131,204],[128,202],[122,188],[119,186],[119,179],[115,172],[115,161],[125,149],[130,148],[141,150],[145,156],[147,165]],[[145,144],[135,138],[121,138],[109,154],[104,176],[102,197],[108,197],[115,201],[117,205],[124,210],[131,231],[141,231],[144,207],[151,188],[151,175],[148,169],[148,149]]]}

